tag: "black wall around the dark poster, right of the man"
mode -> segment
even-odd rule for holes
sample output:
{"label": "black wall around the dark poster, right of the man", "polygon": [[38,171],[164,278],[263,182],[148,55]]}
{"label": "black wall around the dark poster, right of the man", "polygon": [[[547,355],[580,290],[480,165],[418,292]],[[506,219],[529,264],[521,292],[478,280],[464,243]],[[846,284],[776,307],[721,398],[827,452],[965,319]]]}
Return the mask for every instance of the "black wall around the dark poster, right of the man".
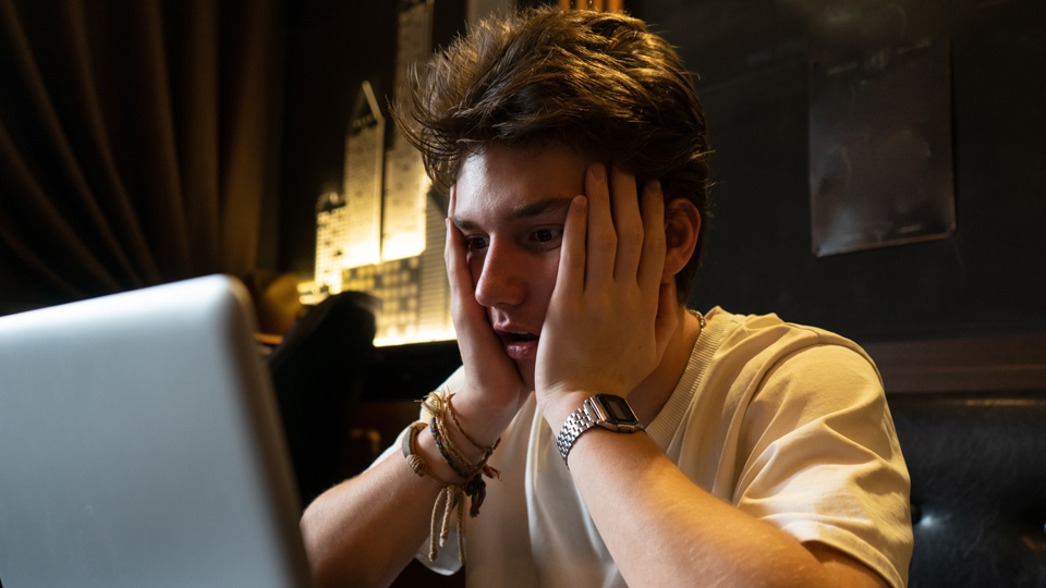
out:
{"label": "black wall around the dark poster, right of the man", "polygon": [[[1046,329],[1046,3],[629,5],[701,77],[716,205],[693,305],[776,311],[862,341]],[[920,38],[950,41],[957,233],[817,258],[807,64]]]}

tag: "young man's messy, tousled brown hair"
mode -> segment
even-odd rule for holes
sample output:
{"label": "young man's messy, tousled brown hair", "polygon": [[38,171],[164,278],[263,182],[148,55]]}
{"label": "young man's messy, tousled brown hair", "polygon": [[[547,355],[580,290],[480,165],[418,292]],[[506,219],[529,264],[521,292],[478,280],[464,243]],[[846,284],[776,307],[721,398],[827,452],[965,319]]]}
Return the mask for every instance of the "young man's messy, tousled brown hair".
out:
{"label": "young man's messy, tousled brown hair", "polygon": [[[691,74],[676,50],[624,14],[555,8],[491,17],[438,52],[412,109],[394,109],[434,188],[447,194],[464,160],[488,145],[561,143],[661,182],[709,218],[708,139]],[[705,223],[703,223],[704,225]],[[677,274],[685,302],[705,231]]]}

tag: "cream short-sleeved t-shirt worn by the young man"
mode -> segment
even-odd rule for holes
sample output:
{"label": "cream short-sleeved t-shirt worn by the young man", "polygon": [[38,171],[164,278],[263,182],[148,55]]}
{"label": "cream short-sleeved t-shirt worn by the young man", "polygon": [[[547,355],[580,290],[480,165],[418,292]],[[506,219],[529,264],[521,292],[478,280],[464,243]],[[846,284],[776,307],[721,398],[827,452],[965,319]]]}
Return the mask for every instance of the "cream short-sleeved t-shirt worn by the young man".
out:
{"label": "cream short-sleeved t-shirt worn by the young man", "polygon": [[[723,502],[905,586],[911,485],[872,360],[847,339],[775,315],[715,308],[706,320],[647,434]],[[440,388],[462,380],[459,369]],[[625,586],[533,395],[490,464],[501,479],[465,522],[469,586]],[[460,568],[453,537],[436,562],[427,540],[417,558],[445,574]]]}

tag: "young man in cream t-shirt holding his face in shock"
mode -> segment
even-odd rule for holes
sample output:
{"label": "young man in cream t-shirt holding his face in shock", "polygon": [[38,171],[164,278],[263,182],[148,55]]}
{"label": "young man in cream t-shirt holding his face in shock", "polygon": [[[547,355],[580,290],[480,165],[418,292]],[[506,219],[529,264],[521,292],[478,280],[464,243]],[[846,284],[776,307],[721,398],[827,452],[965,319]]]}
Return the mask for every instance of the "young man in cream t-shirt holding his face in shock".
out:
{"label": "young man in cream t-shirt holding his face in shock", "polygon": [[308,507],[317,578],[388,585],[415,554],[457,569],[453,537],[429,549],[434,503],[500,439],[500,479],[451,532],[470,586],[903,586],[909,479],[872,362],[684,307],[708,145],[671,47],[538,10],[478,26],[428,81],[400,122],[450,195],[454,425],[404,431]]}

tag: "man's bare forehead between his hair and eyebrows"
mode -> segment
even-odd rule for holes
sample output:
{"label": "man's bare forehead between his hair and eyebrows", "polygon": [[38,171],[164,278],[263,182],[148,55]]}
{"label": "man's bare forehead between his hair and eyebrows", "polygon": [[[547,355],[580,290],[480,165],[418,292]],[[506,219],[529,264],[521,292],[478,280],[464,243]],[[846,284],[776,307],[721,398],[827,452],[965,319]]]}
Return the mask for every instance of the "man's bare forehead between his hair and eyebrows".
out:
{"label": "man's bare forehead between his hair and eyebrows", "polygon": [[470,156],[455,184],[453,216],[465,221],[513,216],[527,207],[584,194],[592,160],[551,144],[542,147],[494,145]]}

